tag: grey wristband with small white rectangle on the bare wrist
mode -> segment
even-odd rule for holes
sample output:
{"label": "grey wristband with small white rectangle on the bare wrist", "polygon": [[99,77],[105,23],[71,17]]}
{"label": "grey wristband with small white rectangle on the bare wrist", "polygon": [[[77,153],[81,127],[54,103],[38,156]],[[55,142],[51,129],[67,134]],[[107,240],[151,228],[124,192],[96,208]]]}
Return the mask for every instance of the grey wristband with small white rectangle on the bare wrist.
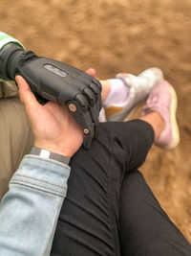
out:
{"label": "grey wristband with small white rectangle on the bare wrist", "polygon": [[48,151],[45,149],[41,149],[38,147],[32,147],[30,154],[37,155],[42,159],[51,159],[54,161],[61,162],[63,164],[69,165],[71,157],[66,156],[64,154],[55,153],[53,151]]}

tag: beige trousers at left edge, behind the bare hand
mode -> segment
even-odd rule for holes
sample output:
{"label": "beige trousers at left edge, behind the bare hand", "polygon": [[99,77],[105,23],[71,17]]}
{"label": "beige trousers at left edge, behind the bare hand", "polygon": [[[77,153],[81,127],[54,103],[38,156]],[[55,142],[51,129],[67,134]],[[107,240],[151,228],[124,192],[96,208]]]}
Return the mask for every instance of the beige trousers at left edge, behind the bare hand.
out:
{"label": "beige trousers at left edge, behind the bare hand", "polygon": [[30,151],[33,141],[24,106],[16,96],[16,85],[6,82],[1,89],[1,95],[7,98],[0,99],[0,200],[8,191],[11,176],[23,155]]}

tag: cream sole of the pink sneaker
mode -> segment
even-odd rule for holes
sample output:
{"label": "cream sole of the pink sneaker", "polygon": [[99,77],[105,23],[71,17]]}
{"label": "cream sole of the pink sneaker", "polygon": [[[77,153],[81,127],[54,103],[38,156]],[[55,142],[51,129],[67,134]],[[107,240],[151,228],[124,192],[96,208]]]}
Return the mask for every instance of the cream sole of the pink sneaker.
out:
{"label": "cream sole of the pink sneaker", "polygon": [[176,119],[176,112],[177,112],[177,94],[175,89],[170,86],[170,91],[172,95],[172,103],[170,105],[170,120],[171,120],[171,126],[172,126],[172,141],[164,149],[166,150],[172,150],[175,147],[178,146],[180,143],[180,131],[179,127],[177,124],[177,119]]}

